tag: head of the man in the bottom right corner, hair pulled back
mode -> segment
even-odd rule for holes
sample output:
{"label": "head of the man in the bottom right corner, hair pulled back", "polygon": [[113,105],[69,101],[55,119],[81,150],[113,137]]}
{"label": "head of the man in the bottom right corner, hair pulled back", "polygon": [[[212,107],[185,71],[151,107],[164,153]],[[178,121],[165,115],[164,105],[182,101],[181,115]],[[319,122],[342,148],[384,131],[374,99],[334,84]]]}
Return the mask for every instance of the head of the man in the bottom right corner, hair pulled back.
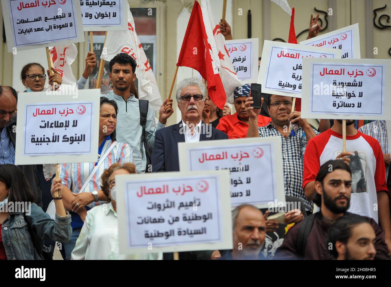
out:
{"label": "head of the man in the bottom right corner, hair pulled back", "polygon": [[362,216],[340,217],[330,230],[326,244],[337,260],[373,260],[376,255],[375,230]]}

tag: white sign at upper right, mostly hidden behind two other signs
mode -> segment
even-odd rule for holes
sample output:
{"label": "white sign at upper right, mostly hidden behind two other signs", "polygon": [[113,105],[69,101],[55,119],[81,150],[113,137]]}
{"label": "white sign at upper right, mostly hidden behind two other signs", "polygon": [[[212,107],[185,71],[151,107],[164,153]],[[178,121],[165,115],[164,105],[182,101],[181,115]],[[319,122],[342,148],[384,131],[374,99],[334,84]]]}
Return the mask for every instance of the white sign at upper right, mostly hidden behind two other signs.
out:
{"label": "white sign at upper right, mostly hidden behind two other signs", "polygon": [[300,42],[300,45],[342,50],[342,59],[361,59],[359,23]]}

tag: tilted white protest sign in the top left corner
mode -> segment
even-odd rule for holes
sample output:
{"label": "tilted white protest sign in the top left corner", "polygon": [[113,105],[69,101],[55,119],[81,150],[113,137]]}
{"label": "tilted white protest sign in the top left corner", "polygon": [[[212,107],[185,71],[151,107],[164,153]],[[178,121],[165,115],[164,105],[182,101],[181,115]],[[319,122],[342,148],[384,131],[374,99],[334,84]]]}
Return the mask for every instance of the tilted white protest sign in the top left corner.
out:
{"label": "tilted white protest sign in the top left corner", "polygon": [[79,0],[2,0],[2,9],[8,52],[84,41]]}

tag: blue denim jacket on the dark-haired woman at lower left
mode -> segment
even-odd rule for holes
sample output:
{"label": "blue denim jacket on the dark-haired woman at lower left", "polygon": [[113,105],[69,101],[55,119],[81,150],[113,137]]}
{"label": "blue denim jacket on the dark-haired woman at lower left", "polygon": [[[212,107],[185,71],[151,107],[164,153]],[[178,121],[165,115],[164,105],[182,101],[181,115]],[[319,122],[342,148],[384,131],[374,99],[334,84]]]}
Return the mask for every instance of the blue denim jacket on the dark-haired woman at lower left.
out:
{"label": "blue denim jacket on the dark-haired woman at lower left", "polygon": [[[43,212],[35,203],[31,204],[31,214],[26,215],[30,229],[36,236],[45,240],[67,242],[72,235],[71,216],[56,214],[56,221]],[[12,212],[2,224],[2,240],[8,260],[40,260],[34,248],[32,236],[22,212]]]}

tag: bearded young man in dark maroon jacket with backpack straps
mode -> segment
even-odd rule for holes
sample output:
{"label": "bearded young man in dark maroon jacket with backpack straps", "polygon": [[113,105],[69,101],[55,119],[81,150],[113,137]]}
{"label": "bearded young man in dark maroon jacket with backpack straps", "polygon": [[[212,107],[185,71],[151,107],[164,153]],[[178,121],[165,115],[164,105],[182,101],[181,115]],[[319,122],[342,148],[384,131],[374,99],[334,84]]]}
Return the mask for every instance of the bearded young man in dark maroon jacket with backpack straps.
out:
{"label": "bearded young man in dark maroon jacket with backpack straps", "polygon": [[[285,235],[284,242],[278,248],[278,259],[327,260],[333,259],[328,255],[326,244],[327,232],[332,224],[340,217],[356,218],[357,214],[347,212],[350,194],[352,193],[352,172],[343,160],[328,160],[317,173],[314,188],[316,194],[314,203],[321,207],[320,212],[307,216],[295,224]],[[377,223],[363,216],[375,230],[375,259],[387,260],[389,254],[384,241],[384,232]]]}

